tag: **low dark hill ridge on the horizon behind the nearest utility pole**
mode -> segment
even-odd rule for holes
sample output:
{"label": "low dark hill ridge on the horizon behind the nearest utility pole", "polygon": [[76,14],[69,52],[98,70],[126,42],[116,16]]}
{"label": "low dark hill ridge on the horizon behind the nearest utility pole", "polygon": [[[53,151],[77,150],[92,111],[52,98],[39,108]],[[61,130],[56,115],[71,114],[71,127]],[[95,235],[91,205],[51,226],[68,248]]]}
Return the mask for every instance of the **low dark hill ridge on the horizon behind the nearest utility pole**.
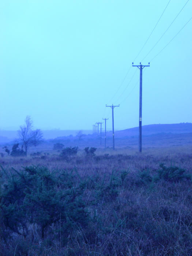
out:
{"label": "low dark hill ridge on the horizon behind the nearest utility pole", "polygon": [[[142,126],[142,135],[152,135],[157,133],[188,133],[192,132],[192,123],[180,124],[149,124]],[[131,137],[139,135],[139,127],[116,131],[116,138]],[[108,136],[112,136],[112,132],[108,132]]]}

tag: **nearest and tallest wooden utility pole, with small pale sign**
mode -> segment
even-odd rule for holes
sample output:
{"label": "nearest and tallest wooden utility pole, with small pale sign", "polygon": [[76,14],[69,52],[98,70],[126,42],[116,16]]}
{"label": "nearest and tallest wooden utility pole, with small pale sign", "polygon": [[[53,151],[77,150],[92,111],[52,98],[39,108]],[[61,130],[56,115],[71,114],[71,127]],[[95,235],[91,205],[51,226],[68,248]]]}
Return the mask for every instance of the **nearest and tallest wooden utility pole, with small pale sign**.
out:
{"label": "nearest and tallest wooden utility pole, with small pale sign", "polygon": [[144,67],[149,67],[148,65],[133,65],[133,67],[138,67],[140,69],[140,90],[139,90],[139,152],[142,152],[142,70]]}

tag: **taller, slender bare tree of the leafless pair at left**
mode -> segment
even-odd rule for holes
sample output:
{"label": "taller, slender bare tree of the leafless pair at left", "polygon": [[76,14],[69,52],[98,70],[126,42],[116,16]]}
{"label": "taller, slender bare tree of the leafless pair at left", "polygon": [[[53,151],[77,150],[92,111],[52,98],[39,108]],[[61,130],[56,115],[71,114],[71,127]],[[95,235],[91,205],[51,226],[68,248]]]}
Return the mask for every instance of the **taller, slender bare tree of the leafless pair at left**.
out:
{"label": "taller, slender bare tree of the leafless pair at left", "polygon": [[30,116],[27,116],[25,119],[25,125],[21,125],[20,130],[18,131],[19,139],[22,141],[26,155],[27,155],[27,150],[31,144],[32,126],[33,126],[33,121],[31,120]]}

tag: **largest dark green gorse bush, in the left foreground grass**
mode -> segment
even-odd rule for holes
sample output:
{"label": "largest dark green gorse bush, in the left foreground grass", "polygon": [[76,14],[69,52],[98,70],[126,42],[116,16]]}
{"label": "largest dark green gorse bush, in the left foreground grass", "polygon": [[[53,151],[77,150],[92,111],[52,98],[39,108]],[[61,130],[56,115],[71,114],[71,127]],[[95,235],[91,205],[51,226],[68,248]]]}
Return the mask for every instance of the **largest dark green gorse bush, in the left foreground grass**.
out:
{"label": "largest dark green gorse bush, in the left foreground grass", "polygon": [[56,178],[46,167],[15,170],[0,194],[0,222],[7,233],[12,231],[26,237],[29,224],[35,224],[44,237],[45,230],[60,221],[67,235],[73,223],[86,225],[88,214],[84,210],[82,189],[69,185],[70,175],[61,176]]}

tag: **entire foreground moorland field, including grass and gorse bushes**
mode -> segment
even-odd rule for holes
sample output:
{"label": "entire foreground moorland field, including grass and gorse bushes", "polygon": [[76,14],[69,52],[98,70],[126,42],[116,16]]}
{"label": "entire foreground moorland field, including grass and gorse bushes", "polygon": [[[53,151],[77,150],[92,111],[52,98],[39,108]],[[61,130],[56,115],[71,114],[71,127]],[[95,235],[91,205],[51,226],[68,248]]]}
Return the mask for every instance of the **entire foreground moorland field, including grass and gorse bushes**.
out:
{"label": "entire foreground moorland field, including grass and gorse bushes", "polygon": [[192,147],[0,159],[1,255],[192,255]]}

